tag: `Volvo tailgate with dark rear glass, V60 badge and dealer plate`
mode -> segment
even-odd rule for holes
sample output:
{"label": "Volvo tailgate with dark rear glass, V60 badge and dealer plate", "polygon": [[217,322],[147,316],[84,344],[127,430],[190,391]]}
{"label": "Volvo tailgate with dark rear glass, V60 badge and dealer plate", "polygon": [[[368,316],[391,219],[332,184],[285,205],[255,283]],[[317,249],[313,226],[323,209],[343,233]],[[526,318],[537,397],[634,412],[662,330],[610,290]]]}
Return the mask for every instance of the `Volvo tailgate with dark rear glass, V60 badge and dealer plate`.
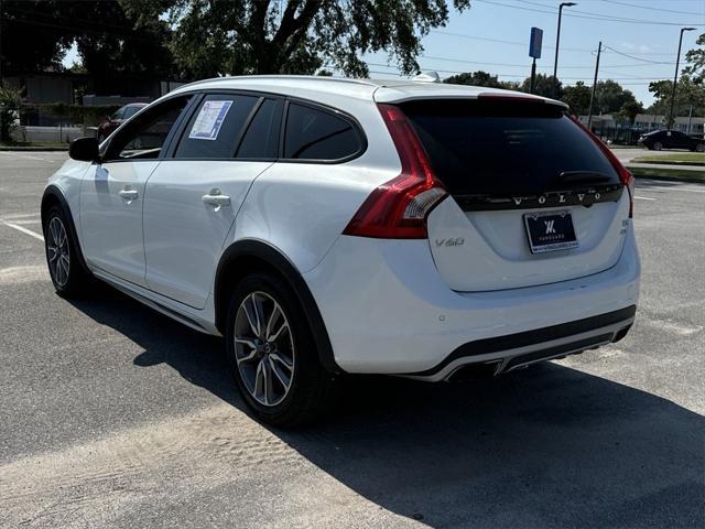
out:
{"label": "Volvo tailgate with dark rear glass, V60 badge and dealer plate", "polygon": [[429,217],[435,263],[453,289],[544,284],[617,262],[628,192],[560,107],[488,98],[402,108],[453,198]]}

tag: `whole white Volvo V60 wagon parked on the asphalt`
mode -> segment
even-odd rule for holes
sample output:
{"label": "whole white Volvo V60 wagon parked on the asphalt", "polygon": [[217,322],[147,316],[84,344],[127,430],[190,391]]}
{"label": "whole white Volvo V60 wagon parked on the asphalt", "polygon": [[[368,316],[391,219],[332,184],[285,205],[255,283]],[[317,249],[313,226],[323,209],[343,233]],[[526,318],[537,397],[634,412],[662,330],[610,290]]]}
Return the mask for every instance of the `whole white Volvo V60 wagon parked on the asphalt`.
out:
{"label": "whole white Volvo V60 wagon parked on the asphalt", "polygon": [[319,413],[340,374],[500,374],[633,322],[633,180],[554,100],[219,78],[70,156],[42,199],[57,292],[97,278],[225,336],[273,424]]}

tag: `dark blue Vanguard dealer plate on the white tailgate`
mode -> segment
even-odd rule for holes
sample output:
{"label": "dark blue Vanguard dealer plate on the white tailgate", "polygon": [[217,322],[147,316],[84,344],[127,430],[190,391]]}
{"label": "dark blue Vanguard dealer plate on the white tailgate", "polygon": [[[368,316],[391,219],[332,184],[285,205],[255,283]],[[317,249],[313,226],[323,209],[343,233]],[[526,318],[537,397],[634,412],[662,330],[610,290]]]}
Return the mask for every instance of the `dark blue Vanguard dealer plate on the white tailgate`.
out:
{"label": "dark blue Vanguard dealer plate on the white tailgate", "polygon": [[524,225],[532,253],[570,250],[578,247],[573,227],[573,216],[568,210],[527,213],[524,214]]}

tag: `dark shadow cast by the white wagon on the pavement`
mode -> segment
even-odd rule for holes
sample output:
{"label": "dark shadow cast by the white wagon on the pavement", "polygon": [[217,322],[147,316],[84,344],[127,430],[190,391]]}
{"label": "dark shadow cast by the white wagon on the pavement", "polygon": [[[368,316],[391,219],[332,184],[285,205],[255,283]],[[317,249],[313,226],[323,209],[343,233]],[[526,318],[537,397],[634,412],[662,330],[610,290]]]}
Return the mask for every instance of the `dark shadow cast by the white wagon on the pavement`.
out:
{"label": "dark shadow cast by the white wagon on the pavement", "polygon": [[[121,294],[74,302],[245,410],[223,342]],[[335,413],[270,429],[380,508],[431,527],[705,527],[705,420],[666,399],[542,364],[430,385],[350,377]]]}

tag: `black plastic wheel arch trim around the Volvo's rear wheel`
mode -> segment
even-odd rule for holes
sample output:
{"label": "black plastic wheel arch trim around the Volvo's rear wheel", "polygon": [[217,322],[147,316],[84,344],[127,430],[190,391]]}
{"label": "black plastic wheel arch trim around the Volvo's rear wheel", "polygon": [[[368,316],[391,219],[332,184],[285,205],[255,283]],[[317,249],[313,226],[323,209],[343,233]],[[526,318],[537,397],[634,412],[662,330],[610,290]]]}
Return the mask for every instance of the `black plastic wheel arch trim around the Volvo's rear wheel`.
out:
{"label": "black plastic wheel arch trim around the Volvo's rear wheel", "polygon": [[228,302],[227,293],[223,295],[224,293],[219,292],[221,290],[219,285],[224,280],[223,274],[231,262],[247,258],[256,258],[267,262],[286,280],[304,309],[304,314],[311,328],[311,333],[313,334],[314,341],[316,342],[321,365],[332,374],[344,373],[335,361],[333,345],[330,344],[328,332],[326,331],[325,323],[323,321],[323,317],[321,316],[321,311],[318,310],[318,305],[316,304],[316,301],[313,298],[308,285],[304,281],[299,270],[296,270],[296,268],[284,255],[282,255],[276,248],[261,240],[247,239],[234,242],[225,250],[225,252],[220,257],[218,268],[216,269],[216,278],[214,283],[216,327],[220,331],[220,333],[224,336],[226,335],[225,303]]}

